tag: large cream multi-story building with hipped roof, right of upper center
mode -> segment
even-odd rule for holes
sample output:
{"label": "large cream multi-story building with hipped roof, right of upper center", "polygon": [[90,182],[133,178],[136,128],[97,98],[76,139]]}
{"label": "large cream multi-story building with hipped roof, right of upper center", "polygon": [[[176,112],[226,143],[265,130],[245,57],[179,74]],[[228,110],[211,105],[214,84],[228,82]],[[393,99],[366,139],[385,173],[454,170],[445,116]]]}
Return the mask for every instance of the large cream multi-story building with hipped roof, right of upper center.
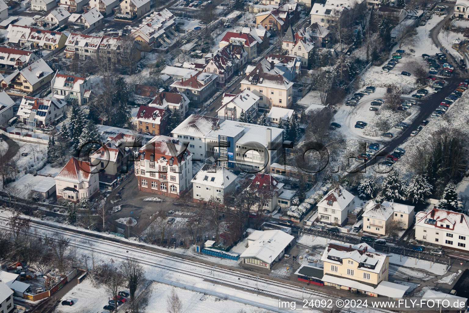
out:
{"label": "large cream multi-story building with hipped roof, right of upper center", "polygon": [[[267,62],[269,63],[269,62]],[[247,89],[259,97],[259,107],[291,107],[293,103],[293,83],[279,74],[279,69],[265,71],[262,64],[241,81],[241,90]]]}

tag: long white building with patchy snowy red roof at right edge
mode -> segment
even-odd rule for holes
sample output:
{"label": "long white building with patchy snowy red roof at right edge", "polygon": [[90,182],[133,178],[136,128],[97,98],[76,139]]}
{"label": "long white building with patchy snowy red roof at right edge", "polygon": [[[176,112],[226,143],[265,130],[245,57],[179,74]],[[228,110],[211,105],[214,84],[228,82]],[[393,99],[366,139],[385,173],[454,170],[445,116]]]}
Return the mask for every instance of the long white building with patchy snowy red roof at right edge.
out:
{"label": "long white building with patchy snowy red roof at right edge", "polygon": [[436,207],[417,212],[415,238],[464,252],[469,251],[469,216]]}

